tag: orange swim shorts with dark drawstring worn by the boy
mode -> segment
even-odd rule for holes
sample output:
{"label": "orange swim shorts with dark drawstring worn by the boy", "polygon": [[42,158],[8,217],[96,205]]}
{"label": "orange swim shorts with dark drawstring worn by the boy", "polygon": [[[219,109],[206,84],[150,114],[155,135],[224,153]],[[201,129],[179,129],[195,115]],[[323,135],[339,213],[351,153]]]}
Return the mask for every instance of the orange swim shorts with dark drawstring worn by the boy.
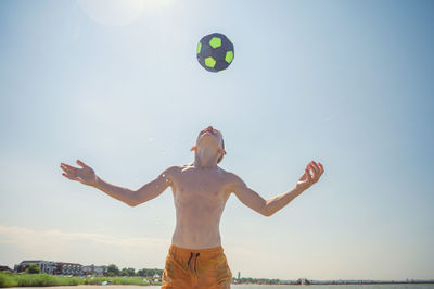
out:
{"label": "orange swim shorts with dark drawstring worn by the boy", "polygon": [[232,273],[221,246],[186,249],[170,246],[162,289],[226,289]]}

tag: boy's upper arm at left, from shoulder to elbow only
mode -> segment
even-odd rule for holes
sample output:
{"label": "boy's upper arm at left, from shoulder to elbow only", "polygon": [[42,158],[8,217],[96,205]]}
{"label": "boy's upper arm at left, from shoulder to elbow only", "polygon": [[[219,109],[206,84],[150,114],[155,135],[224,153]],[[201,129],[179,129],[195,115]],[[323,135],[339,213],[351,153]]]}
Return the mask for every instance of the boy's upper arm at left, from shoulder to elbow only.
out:
{"label": "boy's upper arm at left, from shoulder to elbow only", "polygon": [[173,186],[173,173],[178,166],[170,166],[155,179],[143,185],[132,193],[132,206],[148,202],[163,193],[169,186]]}

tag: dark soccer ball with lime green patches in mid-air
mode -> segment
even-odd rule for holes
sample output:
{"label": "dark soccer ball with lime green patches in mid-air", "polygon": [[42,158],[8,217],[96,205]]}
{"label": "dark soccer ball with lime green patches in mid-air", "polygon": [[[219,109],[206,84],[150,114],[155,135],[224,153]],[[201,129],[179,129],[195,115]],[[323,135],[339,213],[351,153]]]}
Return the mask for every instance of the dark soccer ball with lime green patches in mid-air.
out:
{"label": "dark soccer ball with lime green patches in mid-air", "polygon": [[202,37],[196,49],[197,61],[208,72],[228,68],[233,60],[233,45],[222,34],[213,33]]}

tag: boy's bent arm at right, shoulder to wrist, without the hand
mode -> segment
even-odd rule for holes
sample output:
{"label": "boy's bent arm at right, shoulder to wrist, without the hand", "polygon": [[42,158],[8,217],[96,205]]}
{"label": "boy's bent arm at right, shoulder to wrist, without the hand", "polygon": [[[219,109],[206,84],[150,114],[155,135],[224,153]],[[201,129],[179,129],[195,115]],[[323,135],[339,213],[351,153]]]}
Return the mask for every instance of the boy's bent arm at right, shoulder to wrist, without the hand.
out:
{"label": "boy's bent arm at right, shoulder to wrist, without the hand", "polygon": [[277,211],[289,204],[295,197],[301,194],[303,190],[296,187],[292,188],[288,192],[279,194],[275,198],[265,200],[257,192],[250,189],[246,184],[237,175],[234,175],[234,183],[232,185],[232,191],[237,198],[246,206],[263,214],[264,216],[271,216]]}

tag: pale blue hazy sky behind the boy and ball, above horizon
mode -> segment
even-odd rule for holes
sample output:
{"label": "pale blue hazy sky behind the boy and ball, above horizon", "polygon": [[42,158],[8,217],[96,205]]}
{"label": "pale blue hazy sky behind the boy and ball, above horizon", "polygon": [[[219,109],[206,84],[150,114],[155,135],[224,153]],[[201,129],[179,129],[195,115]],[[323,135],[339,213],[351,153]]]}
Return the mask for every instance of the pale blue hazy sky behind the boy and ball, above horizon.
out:
{"label": "pale blue hazy sky behind the boy and ball, above horizon", "polygon": [[[265,199],[311,160],[320,181],[271,217],[231,196],[233,275],[433,278],[430,1],[1,1],[1,265],[164,267],[170,189],[136,208],[62,176],[80,159],[138,189],[208,125],[220,166]],[[234,60],[200,66],[226,34]]]}

